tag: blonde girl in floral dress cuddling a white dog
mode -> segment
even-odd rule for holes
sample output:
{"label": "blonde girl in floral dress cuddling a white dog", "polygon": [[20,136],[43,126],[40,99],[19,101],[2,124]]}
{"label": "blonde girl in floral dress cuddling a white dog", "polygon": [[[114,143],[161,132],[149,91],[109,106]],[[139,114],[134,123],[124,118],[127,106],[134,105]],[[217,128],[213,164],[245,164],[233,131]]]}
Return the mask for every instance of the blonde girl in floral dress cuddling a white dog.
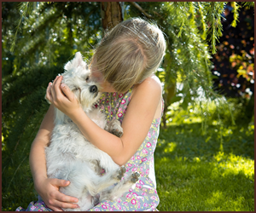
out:
{"label": "blonde girl in floral dress cuddling a white dog", "polygon": [[73,93],[61,83],[61,76],[49,83],[46,97],[52,104],[30,153],[39,200],[29,204],[27,210],[78,208],[78,199],[59,192],[59,187],[67,187],[70,182],[50,179],[46,175],[44,147],[54,127],[54,107],[67,114],[82,134],[108,153],[116,164],[140,173],[135,188],[117,200],[105,200],[90,210],[156,210],[160,201],[154,177],[154,149],[164,106],[160,80],[154,72],[165,50],[166,41],[160,29],[138,18],[119,23],[96,48],[90,69],[103,92],[96,107],[101,107],[108,121],[119,119],[124,130],[121,138],[102,130],[87,117]]}

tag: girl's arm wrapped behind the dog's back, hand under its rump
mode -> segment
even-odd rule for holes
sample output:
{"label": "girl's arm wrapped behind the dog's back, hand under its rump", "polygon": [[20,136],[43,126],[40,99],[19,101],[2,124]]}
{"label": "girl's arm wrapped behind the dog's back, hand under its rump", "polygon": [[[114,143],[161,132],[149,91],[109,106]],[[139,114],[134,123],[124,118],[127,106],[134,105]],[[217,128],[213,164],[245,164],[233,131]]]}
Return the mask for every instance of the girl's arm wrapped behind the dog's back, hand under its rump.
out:
{"label": "girl's arm wrapped behind the dog's back, hand under its rump", "polygon": [[54,107],[51,105],[44,116],[44,120],[38,130],[38,135],[32,142],[29,156],[29,164],[35,189],[50,209],[61,211],[61,208],[78,208],[78,199],[69,197],[59,192],[59,187],[67,187],[69,181],[47,178],[44,147],[49,143],[50,135],[54,127]]}

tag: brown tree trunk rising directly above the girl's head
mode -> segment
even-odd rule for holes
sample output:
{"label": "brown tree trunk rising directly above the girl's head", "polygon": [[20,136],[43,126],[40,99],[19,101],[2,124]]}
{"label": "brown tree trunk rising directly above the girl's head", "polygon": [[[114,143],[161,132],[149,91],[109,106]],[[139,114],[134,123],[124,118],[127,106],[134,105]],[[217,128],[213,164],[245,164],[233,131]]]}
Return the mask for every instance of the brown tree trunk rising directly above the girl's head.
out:
{"label": "brown tree trunk rising directly above the girl's head", "polygon": [[123,19],[122,7],[119,2],[102,2],[102,27],[104,30],[112,29]]}

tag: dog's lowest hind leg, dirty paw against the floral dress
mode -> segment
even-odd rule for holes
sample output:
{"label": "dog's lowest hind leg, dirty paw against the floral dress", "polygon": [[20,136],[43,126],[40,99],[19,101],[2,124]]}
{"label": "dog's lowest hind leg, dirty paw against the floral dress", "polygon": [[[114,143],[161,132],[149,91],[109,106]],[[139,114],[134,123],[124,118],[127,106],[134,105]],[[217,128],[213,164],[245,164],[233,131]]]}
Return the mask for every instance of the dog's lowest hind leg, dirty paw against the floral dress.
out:
{"label": "dog's lowest hind leg, dirty paw against the floral dress", "polygon": [[124,180],[119,181],[115,187],[102,191],[102,193],[100,193],[100,202],[106,199],[114,200],[121,197],[123,193],[128,192],[129,189],[134,186],[139,176],[137,172],[131,173],[129,176],[126,176]]}

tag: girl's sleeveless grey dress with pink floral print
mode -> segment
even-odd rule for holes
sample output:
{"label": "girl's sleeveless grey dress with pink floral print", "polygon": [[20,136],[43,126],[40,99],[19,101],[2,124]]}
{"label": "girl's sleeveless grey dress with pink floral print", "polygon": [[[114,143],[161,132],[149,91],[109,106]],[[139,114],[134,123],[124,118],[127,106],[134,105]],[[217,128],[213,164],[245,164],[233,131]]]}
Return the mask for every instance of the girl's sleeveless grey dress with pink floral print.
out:
{"label": "girl's sleeveless grey dress with pink floral print", "polygon": [[[102,93],[95,107],[100,107],[106,114],[108,122],[118,119],[122,123],[126,109],[131,101],[132,89],[125,94]],[[162,104],[162,106],[164,106]],[[126,172],[137,171],[140,176],[134,188],[130,188],[122,197],[116,200],[104,200],[89,211],[132,211],[132,210],[156,210],[160,199],[156,192],[156,182],[154,176],[154,150],[160,131],[160,118],[152,121],[148,135],[137,152],[125,164]],[[126,174],[125,174],[126,175]],[[22,207],[16,211],[24,211]],[[42,199],[31,202],[25,211],[47,211],[50,210]]]}

